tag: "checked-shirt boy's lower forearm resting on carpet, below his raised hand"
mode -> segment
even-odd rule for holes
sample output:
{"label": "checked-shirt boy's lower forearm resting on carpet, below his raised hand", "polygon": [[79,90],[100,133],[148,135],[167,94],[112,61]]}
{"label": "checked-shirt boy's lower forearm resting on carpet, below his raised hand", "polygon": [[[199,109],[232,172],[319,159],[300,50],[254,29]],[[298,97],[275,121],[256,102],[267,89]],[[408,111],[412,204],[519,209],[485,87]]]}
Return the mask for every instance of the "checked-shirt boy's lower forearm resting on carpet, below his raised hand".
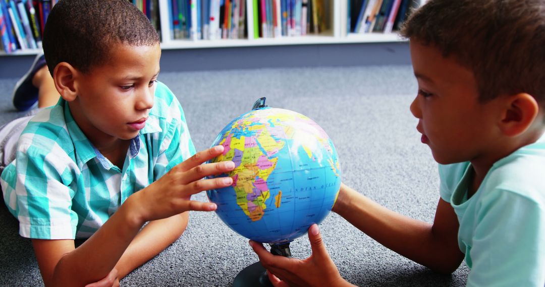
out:
{"label": "checked-shirt boy's lower forearm resting on carpet, below his raised hand", "polygon": [[189,212],[174,215],[166,219],[150,221],[125,250],[116,269],[119,278],[146,263],[155,255],[176,241],[187,227]]}

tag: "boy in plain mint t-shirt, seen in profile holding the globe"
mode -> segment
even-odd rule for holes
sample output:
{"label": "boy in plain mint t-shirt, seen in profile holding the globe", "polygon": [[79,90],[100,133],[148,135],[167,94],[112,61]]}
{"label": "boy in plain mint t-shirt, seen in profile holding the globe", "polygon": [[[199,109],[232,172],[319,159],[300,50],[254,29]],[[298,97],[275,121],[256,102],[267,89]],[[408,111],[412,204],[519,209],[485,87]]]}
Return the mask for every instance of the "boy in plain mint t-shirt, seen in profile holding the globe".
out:
{"label": "boy in plain mint t-shirt, seen in profile holding the globe", "polygon": [[[439,163],[433,224],[341,185],[333,211],[384,246],[468,286],[545,285],[545,2],[431,0],[402,35],[419,91],[416,129]],[[251,241],[275,286],[342,286],[318,227],[306,260]]]}

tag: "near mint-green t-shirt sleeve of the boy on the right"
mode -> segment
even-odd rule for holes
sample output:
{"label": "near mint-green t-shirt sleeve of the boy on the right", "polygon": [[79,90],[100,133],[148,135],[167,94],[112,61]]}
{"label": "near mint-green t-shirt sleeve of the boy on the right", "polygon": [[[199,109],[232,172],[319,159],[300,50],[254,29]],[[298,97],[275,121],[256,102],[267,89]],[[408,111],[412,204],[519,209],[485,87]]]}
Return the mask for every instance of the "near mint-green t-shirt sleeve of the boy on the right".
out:
{"label": "near mint-green t-shirt sleeve of the boy on the right", "polygon": [[545,284],[545,207],[496,189],[477,209],[467,286]]}

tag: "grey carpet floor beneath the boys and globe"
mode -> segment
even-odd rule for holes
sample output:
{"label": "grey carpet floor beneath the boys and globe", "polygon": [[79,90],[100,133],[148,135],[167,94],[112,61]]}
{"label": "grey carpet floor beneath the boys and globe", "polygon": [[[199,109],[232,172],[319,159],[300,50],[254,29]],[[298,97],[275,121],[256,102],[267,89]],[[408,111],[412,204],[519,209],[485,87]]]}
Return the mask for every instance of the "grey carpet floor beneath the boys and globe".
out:
{"label": "grey carpet floor beneath the boys and globe", "polygon": [[[197,149],[210,146],[232,118],[259,97],[269,107],[307,115],[329,134],[339,154],[342,180],[387,208],[432,222],[439,199],[437,164],[420,143],[409,111],[416,95],[410,66],[323,67],[162,73],[159,79],[184,107]],[[17,79],[0,79],[0,124],[21,113],[11,108]],[[206,201],[204,193],[197,199]],[[0,207],[0,285],[43,284],[28,239]],[[341,275],[359,286],[464,286],[462,263],[450,276],[429,271],[381,246],[331,213],[320,225]],[[291,244],[306,258],[306,235]],[[191,213],[173,245],[121,281],[122,286],[229,286],[257,256],[247,240],[214,213]]]}

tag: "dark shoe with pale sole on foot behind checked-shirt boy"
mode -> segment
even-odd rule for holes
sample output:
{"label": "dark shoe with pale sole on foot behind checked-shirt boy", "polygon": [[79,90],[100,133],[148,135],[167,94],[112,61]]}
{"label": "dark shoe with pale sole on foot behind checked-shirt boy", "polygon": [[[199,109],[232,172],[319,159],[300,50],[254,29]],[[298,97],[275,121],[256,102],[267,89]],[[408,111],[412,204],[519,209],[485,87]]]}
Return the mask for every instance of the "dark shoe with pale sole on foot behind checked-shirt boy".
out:
{"label": "dark shoe with pale sole on foot behind checked-shirt boy", "polygon": [[38,103],[38,88],[32,84],[32,78],[41,67],[45,66],[44,54],[40,53],[34,59],[30,70],[23,76],[13,89],[13,105],[17,110],[26,111]]}

